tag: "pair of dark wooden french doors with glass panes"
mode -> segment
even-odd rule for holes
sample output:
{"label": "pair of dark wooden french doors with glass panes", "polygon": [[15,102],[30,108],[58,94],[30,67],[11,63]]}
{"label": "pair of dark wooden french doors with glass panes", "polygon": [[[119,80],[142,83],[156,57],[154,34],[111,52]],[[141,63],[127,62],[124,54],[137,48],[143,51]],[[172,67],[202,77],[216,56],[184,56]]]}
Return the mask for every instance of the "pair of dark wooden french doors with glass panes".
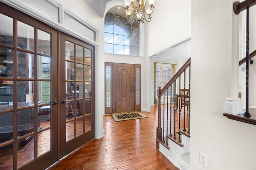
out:
{"label": "pair of dark wooden french doors with glass panes", "polygon": [[0,169],[45,169],[95,137],[95,47],[0,2]]}

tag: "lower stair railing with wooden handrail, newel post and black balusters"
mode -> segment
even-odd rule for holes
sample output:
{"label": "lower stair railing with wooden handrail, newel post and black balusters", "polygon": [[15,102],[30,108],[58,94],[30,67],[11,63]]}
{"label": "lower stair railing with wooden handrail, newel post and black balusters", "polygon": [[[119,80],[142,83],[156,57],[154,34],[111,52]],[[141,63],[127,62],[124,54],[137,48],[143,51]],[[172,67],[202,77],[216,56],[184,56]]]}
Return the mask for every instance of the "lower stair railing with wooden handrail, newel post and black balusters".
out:
{"label": "lower stair railing with wooden handrail, newel post and black balusters", "polygon": [[[189,58],[162,89],[158,87],[158,126],[156,128],[156,147],[158,149],[160,143],[168,148],[168,139],[182,147],[181,134],[190,137],[190,64],[191,59]],[[186,78],[187,73],[188,78]],[[181,87],[181,78],[184,80],[184,87]],[[186,80],[188,85],[186,85]],[[182,88],[184,100],[180,98]],[[185,95],[186,88],[188,95]],[[177,94],[176,91],[178,91]],[[188,102],[186,102],[186,98],[188,98]],[[182,109],[183,106],[184,109]],[[188,108],[187,111],[186,108]]]}

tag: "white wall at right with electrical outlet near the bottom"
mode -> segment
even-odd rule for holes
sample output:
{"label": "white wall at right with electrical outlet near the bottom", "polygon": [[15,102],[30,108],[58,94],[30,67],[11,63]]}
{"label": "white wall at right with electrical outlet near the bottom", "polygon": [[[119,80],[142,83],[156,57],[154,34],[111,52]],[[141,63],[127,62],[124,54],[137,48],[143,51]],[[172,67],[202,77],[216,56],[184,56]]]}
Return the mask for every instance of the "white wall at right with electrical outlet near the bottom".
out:
{"label": "white wall at right with electrical outlet near the bottom", "polygon": [[[256,169],[256,126],[222,115],[232,93],[232,19],[239,20],[233,2],[192,0],[192,170]],[[208,168],[200,164],[200,152],[208,156]]]}

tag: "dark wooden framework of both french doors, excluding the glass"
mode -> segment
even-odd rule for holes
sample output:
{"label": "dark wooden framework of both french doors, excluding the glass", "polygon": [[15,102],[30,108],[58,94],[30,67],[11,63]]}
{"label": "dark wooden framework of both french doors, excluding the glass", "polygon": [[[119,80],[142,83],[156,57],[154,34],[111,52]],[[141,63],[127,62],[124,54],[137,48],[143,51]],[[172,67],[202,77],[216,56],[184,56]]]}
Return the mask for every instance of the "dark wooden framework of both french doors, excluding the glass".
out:
{"label": "dark wooden framework of both french doors, excluding the glass", "polygon": [[[14,36],[14,45],[9,46],[6,44],[1,43],[1,47],[3,48],[9,48],[14,50],[14,58],[17,55],[18,51],[24,52],[24,53],[31,53],[35,56],[34,59],[34,65],[35,65],[35,71],[34,71],[34,78],[19,78],[17,76],[17,70],[18,70],[18,62],[17,59],[14,59],[14,73],[13,73],[13,78],[6,78],[6,80],[10,79],[14,82],[14,98],[13,98],[13,109],[8,110],[8,112],[13,112],[15,116],[13,116],[13,139],[6,141],[4,143],[0,143],[0,147],[5,147],[6,145],[12,144],[13,149],[12,149],[12,167],[14,170],[21,169],[21,170],[28,170],[28,169],[45,169],[48,166],[52,165],[53,163],[57,162],[60,158],[65,156],[66,154],[70,153],[72,150],[77,149],[87,141],[93,139],[95,137],[95,47],[92,45],[89,45],[87,43],[84,43],[83,41],[80,41],[72,36],[66,35],[2,2],[0,2],[0,13],[4,14],[5,16],[8,16],[10,18],[13,18],[13,36]],[[43,53],[37,52],[37,47],[36,47],[36,42],[35,42],[35,49],[34,51],[29,51],[26,49],[19,49],[17,47],[17,21],[20,21],[22,23],[25,23],[27,25],[30,25],[31,27],[34,27],[35,30],[42,30],[46,33],[50,34],[50,51],[51,54],[50,56],[45,55],[46,57],[51,58],[51,78],[50,80],[44,80],[44,79],[38,79],[38,73],[37,70],[38,68],[36,67],[37,63],[37,56],[42,55],[44,56]],[[3,24],[3,23],[1,23]],[[34,39],[37,39],[37,32],[35,31],[34,33]],[[90,115],[90,122],[91,122],[91,129],[88,131],[84,130],[84,134],[76,136],[75,139],[72,139],[68,142],[65,142],[65,123],[66,120],[64,118],[64,114],[66,112],[66,109],[64,104],[61,103],[62,99],[66,98],[65,94],[65,87],[60,86],[61,84],[65,83],[65,80],[63,79],[63,73],[64,70],[61,70],[61,68],[65,68],[65,48],[63,50],[62,45],[65,43],[66,39],[75,42],[76,44],[82,45],[84,47],[87,47],[90,49],[91,56],[92,56],[92,63],[91,63],[91,74],[92,74],[92,79],[89,81],[91,83],[91,92],[89,97],[85,97],[83,100],[89,100],[91,113],[88,113],[86,115]],[[85,64],[86,65],[86,64]],[[87,64],[88,65],[88,64]],[[89,66],[88,65],[88,66]],[[25,70],[26,71],[26,70]],[[64,71],[65,72],[65,71]],[[17,107],[17,86],[18,86],[18,81],[33,81],[34,82],[34,105],[26,107],[26,109],[34,109],[34,130],[32,133],[29,133],[27,135],[24,135],[24,137],[17,137],[18,136],[18,114],[19,110],[22,110]],[[64,82],[63,82],[64,81]],[[56,105],[50,105],[50,127],[47,127],[47,130],[50,131],[50,150],[48,150],[46,153],[37,156],[38,152],[38,147],[37,147],[37,136],[38,133],[44,131],[44,129],[37,129],[36,124],[38,123],[38,110],[42,106],[49,106],[49,104],[40,104],[38,103],[38,82],[50,82],[51,87],[50,87],[50,102],[53,102],[53,100],[56,100]],[[85,109],[85,106],[83,107]],[[6,110],[0,110],[0,114],[3,115],[6,113]],[[85,119],[85,118],[84,118]],[[34,136],[34,141],[33,142],[33,150],[34,150],[34,156],[32,160],[27,161],[25,164],[22,166],[17,165],[17,160],[18,160],[18,140],[20,139],[25,139],[25,137],[29,136]],[[64,140],[63,140],[64,139]],[[2,153],[1,153],[2,154]],[[2,155],[1,155],[2,157]],[[0,166],[1,167],[1,166]],[[1,168],[2,169],[2,168]]]}

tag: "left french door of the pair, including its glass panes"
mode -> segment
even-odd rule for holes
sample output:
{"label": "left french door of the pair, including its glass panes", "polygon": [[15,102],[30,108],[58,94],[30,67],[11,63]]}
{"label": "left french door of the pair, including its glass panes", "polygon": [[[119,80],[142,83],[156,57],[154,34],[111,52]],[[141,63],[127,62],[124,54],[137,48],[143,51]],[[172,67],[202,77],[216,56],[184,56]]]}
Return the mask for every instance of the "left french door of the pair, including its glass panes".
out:
{"label": "left french door of the pair, including its glass panes", "polygon": [[2,3],[0,11],[0,169],[42,169],[58,158],[57,31]]}

